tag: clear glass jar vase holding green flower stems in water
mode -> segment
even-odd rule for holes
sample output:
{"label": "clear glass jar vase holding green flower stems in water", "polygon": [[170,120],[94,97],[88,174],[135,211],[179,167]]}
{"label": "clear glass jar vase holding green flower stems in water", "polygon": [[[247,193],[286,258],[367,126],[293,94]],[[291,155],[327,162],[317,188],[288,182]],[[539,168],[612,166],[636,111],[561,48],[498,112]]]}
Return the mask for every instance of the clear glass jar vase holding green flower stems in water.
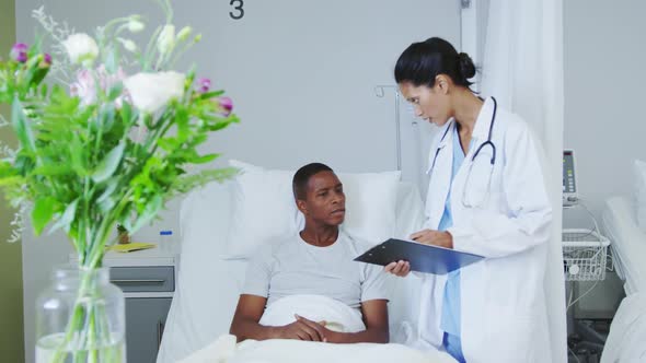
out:
{"label": "clear glass jar vase holding green flower stems in water", "polygon": [[126,362],[125,320],[107,268],[59,268],[36,302],[36,363]]}

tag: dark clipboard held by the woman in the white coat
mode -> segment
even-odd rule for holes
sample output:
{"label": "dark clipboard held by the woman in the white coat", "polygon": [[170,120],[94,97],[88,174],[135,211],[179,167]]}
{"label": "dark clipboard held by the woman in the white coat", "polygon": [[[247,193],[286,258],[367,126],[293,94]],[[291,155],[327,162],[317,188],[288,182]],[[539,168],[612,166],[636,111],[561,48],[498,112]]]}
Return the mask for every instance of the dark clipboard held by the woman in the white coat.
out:
{"label": "dark clipboard held by the woman in the white coat", "polygon": [[477,262],[484,257],[454,249],[424,245],[414,241],[390,238],[379,244],[355,261],[387,266],[399,260],[411,264],[411,271],[446,274]]}

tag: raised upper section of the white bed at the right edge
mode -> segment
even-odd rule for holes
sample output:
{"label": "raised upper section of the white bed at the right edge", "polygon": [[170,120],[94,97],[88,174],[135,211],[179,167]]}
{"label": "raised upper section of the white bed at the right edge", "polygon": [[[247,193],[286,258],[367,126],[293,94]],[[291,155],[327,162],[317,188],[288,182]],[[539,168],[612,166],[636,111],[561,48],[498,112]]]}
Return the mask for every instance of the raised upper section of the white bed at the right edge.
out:
{"label": "raised upper section of the white bed at the right edge", "polygon": [[626,198],[610,198],[602,221],[626,294],[646,293],[646,234],[637,226],[633,206]]}

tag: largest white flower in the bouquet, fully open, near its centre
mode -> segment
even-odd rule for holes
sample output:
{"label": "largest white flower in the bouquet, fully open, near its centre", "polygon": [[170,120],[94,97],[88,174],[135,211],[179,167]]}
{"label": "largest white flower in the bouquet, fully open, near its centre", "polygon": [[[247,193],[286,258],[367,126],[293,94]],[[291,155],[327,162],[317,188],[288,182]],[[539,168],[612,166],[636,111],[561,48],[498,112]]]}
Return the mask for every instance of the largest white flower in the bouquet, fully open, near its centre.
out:
{"label": "largest white flower in the bouquet, fully open, near its centre", "polygon": [[159,110],[169,101],[182,97],[184,83],[184,74],[172,71],[137,73],[124,81],[132,105],[149,114]]}

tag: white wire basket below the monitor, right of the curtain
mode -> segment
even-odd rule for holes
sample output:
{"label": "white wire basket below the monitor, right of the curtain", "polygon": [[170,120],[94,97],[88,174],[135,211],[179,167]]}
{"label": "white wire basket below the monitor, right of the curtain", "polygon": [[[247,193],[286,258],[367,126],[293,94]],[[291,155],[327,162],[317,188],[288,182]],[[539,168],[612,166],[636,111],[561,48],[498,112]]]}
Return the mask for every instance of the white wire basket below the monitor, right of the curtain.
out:
{"label": "white wire basket below the monitor, right of the curtain", "polygon": [[563,230],[563,267],[566,281],[605,279],[610,241],[598,231]]}

